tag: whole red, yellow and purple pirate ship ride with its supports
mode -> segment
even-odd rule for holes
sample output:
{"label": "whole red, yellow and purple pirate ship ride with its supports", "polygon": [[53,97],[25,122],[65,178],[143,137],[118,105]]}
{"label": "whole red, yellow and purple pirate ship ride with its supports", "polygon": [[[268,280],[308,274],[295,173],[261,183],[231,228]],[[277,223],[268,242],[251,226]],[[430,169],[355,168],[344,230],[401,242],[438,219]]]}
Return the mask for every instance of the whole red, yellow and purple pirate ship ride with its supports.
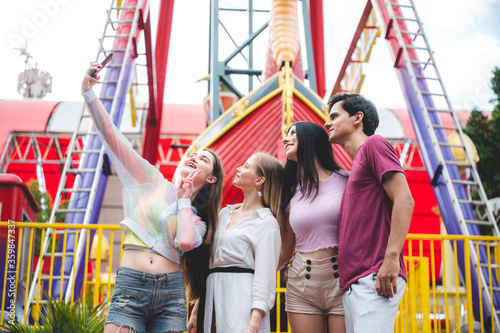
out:
{"label": "whole red, yellow and purple pirate ship ride with its supports", "polygon": [[[462,133],[460,120],[451,106],[413,1],[367,1],[335,86],[328,92],[325,88],[322,1],[288,0],[272,3],[269,22],[255,28],[253,15],[259,10],[253,8],[252,0],[243,9],[223,8],[219,0],[211,0],[210,84],[209,97],[205,101],[205,107],[209,111],[209,126],[194,140],[179,143],[171,140],[168,151],[159,154],[157,147],[161,147],[162,101],[174,1],[161,1],[155,49],[151,40],[149,1],[112,1],[97,58],[101,60],[109,52],[113,52],[115,56],[105,70],[100,99],[117,126],[120,125],[127,98],[130,99],[132,112],[147,110],[142,141],[144,158],[157,164],[158,156],[161,157],[159,163],[162,163],[165,156],[172,158],[179,150],[185,152],[185,158],[197,150],[211,147],[220,155],[226,172],[223,201],[237,202],[242,198],[241,193],[231,185],[236,167],[257,151],[270,153],[284,161],[281,140],[287,128],[296,121],[323,124],[327,117],[324,96],[327,98],[340,92],[359,93],[364,80],[363,63],[368,62],[376,39],[384,38],[392,55],[414,136],[418,141],[393,142],[402,165],[408,170],[407,177],[410,187],[413,186],[412,192],[415,195],[414,191],[420,191],[420,188],[427,191],[420,196],[432,197],[428,207],[426,206],[429,212],[437,201],[448,234],[480,235],[479,226],[482,226],[482,230],[489,229],[489,234],[500,236],[493,213],[487,205],[488,199],[475,168],[472,152]],[[219,19],[222,11],[248,13],[249,33],[244,43],[235,44],[234,51],[220,60],[219,30],[221,27],[226,29]],[[300,14],[303,22],[300,28],[304,31],[306,45],[300,45],[299,42]],[[264,33],[269,34],[266,68],[255,69],[252,42]],[[243,50],[249,50],[248,68],[229,67],[228,63],[242,54]],[[307,59],[305,71],[302,67],[304,52]],[[235,87],[231,79],[234,75],[249,77],[248,93],[242,93]],[[264,78],[261,86],[253,87],[254,76]],[[147,82],[138,82],[141,78],[147,78]],[[226,87],[226,90],[221,91],[221,86]],[[134,102],[137,100],[137,90],[141,87],[147,87],[149,93],[144,104]],[[234,105],[228,105],[233,101],[236,101]],[[39,141],[33,133],[13,133],[1,156],[1,172],[6,172],[9,164],[15,163],[16,158],[21,159],[19,154],[16,157],[16,152],[19,152],[22,145],[25,148],[28,145],[26,149],[33,149],[33,162],[37,165],[42,165],[50,154],[57,155],[54,159],[59,161],[61,172],[57,177],[57,191],[52,189],[55,191],[54,209],[49,223],[55,223],[56,215],[60,213],[66,214],[67,224],[95,224],[98,221],[111,169],[95,130],[92,126],[85,128],[85,124],[88,124],[86,110],[82,109],[78,118],[78,125],[71,138],[44,138],[49,147],[52,147],[52,153],[47,150],[45,154],[40,153]],[[458,135],[458,143],[448,141],[448,135],[453,132]],[[23,139],[25,143],[20,143]],[[189,148],[186,150],[187,146]],[[452,149],[456,148],[464,150],[465,161],[455,160]],[[350,169],[352,161],[342,148],[334,146],[334,154],[343,168]],[[180,157],[178,155],[177,159],[174,158],[172,164],[178,163]],[[459,171],[462,168],[468,170],[467,178]],[[43,170],[37,175],[39,181],[44,179]],[[422,182],[426,182],[425,186],[418,187]],[[477,199],[470,198],[471,187],[477,189]],[[430,194],[431,188],[434,196]],[[69,205],[59,208],[64,198],[69,199]],[[422,218],[421,214],[414,214],[410,232],[439,234],[439,218],[435,215],[434,218]],[[57,231],[45,233],[43,256],[50,255],[47,249],[56,236]],[[63,278],[52,283],[52,295],[62,293],[63,298],[69,300],[81,292],[86,273],[82,257],[85,252],[84,244],[88,239],[92,240],[92,235],[89,237],[87,231],[83,231],[78,237],[75,234],[68,235],[65,248],[62,242],[59,244],[59,249],[55,252],[53,274]],[[462,279],[463,272],[467,267],[470,268],[468,281],[473,290],[474,317],[477,321],[481,321],[482,317],[484,322],[493,322],[495,331],[499,331],[498,275],[488,272],[488,269],[498,270],[498,267],[489,265],[490,245],[479,242],[464,249],[464,244],[465,242],[455,244],[453,250],[460,258],[464,258],[464,251],[468,252],[469,258],[458,260],[458,266]],[[440,248],[434,250],[441,251]],[[405,253],[408,251],[411,250],[405,247]],[[425,254],[431,249],[424,248],[420,251]],[[66,253],[64,261],[63,253]],[[43,256],[40,260],[43,260]],[[436,262],[435,265],[439,270],[440,263]],[[44,279],[41,265],[37,265],[32,281]],[[45,287],[48,288],[48,284]],[[27,294],[25,316],[29,316],[33,304],[43,302],[35,301],[36,289],[37,284],[33,283]]]}

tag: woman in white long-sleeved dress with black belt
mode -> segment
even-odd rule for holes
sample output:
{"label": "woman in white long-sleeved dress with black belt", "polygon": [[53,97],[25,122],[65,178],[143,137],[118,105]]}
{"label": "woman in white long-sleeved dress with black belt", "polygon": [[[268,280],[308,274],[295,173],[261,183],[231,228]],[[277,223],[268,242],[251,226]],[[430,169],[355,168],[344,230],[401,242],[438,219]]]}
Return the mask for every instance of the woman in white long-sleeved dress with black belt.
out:
{"label": "woman in white long-sleeved dress with black belt", "polygon": [[[276,269],[281,248],[279,213],[283,164],[257,153],[239,167],[233,185],[244,193],[241,204],[219,213],[207,278],[205,309],[193,309],[188,332],[269,333]],[[198,331],[201,331],[198,330]]]}

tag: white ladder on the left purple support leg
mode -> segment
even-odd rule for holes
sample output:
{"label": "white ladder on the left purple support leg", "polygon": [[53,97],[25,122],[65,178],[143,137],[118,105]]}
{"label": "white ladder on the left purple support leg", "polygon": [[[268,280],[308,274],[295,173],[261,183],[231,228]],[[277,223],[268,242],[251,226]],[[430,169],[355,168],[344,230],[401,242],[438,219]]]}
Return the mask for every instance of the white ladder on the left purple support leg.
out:
{"label": "white ladder on the left purple support leg", "polygon": [[[111,119],[114,119],[114,116],[116,112],[121,112],[122,110],[119,110],[119,104],[121,104],[122,108],[124,105],[124,100],[126,98],[126,93],[125,94],[120,94],[122,91],[129,91],[130,88],[130,78],[128,79],[127,82],[125,82],[125,78],[127,75],[127,71],[130,71],[131,69],[134,68],[135,65],[135,58],[137,57],[137,46],[136,46],[136,40],[135,36],[137,33],[137,30],[140,29],[139,27],[139,18],[142,18],[141,15],[141,9],[145,5],[145,1],[148,0],[138,0],[135,6],[117,6],[116,0],[111,1],[111,6],[110,9],[108,10],[108,15],[104,27],[104,32],[102,34],[101,38],[101,46],[99,48],[99,51],[97,53],[97,58],[96,61],[102,60],[99,59],[101,53],[104,53],[106,55],[109,52],[115,53],[115,60],[112,61],[112,63],[108,64],[106,68],[120,68],[120,74],[118,79],[115,80],[110,80],[110,79],[105,79],[102,81],[102,90],[105,89],[106,85],[114,85],[116,87],[115,89],[115,94],[112,97],[101,97],[100,99],[105,102],[105,101],[112,101],[111,104],[111,110],[109,112]],[[148,6],[149,3],[146,3]],[[119,19],[119,11],[134,11],[133,19],[132,20],[120,20]],[[112,14],[116,13],[116,16],[118,17],[117,20],[113,20]],[[114,25],[115,24],[131,24],[131,28],[129,33],[127,34],[116,34],[110,32],[109,28],[112,28],[115,30]],[[117,38],[127,38],[127,44],[126,47],[123,49],[105,49],[103,46],[103,42],[106,39],[117,39]],[[113,43],[114,44],[114,43]],[[116,58],[117,58],[117,53],[122,53],[122,62],[121,64],[117,63]],[[133,59],[132,62],[127,62],[128,59]],[[104,72],[102,72],[104,73]],[[102,76],[101,73],[101,77]],[[128,73],[129,74],[129,73]],[[131,75],[128,75],[131,76]],[[121,103],[119,103],[121,102]],[[53,210],[50,216],[49,224],[54,224],[56,222],[56,214],[58,213],[65,213],[65,214],[79,214],[78,217],[81,219],[81,223],[79,224],[84,224],[88,225],[89,223],[96,223],[97,221],[90,221],[91,220],[91,215],[92,215],[92,209],[96,208],[94,207],[95,203],[95,198],[96,198],[96,192],[97,188],[99,185],[99,179],[101,177],[101,174],[103,173],[103,166],[105,165],[104,163],[104,154],[105,150],[102,144],[100,144],[100,148],[98,149],[92,149],[90,147],[90,144],[93,143],[94,138],[97,136],[97,132],[95,131],[95,128],[93,127],[92,123],[89,125],[89,129],[87,131],[81,131],[81,126],[82,126],[82,121],[83,119],[89,118],[88,111],[84,107],[81,112],[80,119],[78,121],[77,128],[75,132],[73,133],[73,136],[71,138],[70,144],[67,149],[66,153],[66,161],[64,164],[64,168],[61,174],[61,181],[59,183],[59,187],[57,189],[57,194],[54,199],[53,203]],[[83,149],[77,149],[79,145],[79,139],[83,140],[84,142],[84,148]],[[80,161],[79,161],[79,166],[77,169],[74,169],[72,167],[72,162],[74,160],[75,155],[80,155]],[[83,165],[85,164],[85,161],[89,158],[95,158],[95,156],[98,156],[97,164],[93,168],[84,168]],[[75,174],[75,182],[73,187],[67,186],[67,180],[68,180],[68,174]],[[84,174],[92,174],[92,182],[91,184],[83,184],[83,175]],[[59,208],[61,199],[63,194],[71,194],[71,199],[69,203],[68,208]],[[77,201],[84,200],[86,201],[86,205],[84,208],[75,208],[77,206]],[[82,218],[83,216],[83,218]],[[68,215],[66,216],[66,219],[68,219]],[[41,286],[42,281],[49,281],[49,294],[52,291],[52,282],[58,282],[59,280],[64,280],[66,283],[66,287],[64,288],[65,291],[63,291],[64,294],[64,299],[66,301],[69,301],[72,299],[73,296],[73,287],[75,284],[75,279],[76,275],[78,272],[78,269],[81,265],[81,261],[85,259],[85,248],[86,248],[86,243],[87,243],[87,229],[82,229],[78,233],[78,242],[77,242],[77,248],[76,250],[73,248],[72,252],[66,252],[66,249],[63,249],[62,251],[56,251],[54,252],[53,259],[54,258],[65,258],[65,257],[70,257],[71,260],[76,260],[76,263],[72,263],[72,267],[70,274],[64,274],[64,266],[67,264],[67,262],[62,262],[61,263],[61,276],[52,276],[52,274],[48,276],[44,276],[41,274],[41,266],[43,263],[44,258],[51,258],[52,253],[49,253],[47,250],[49,248],[49,244],[53,243],[53,237],[55,235],[64,235],[64,231],[56,231],[55,233],[53,232],[52,229],[46,229],[44,238],[43,238],[43,243],[42,243],[42,248],[41,248],[41,257],[38,261],[37,268],[35,272],[33,273],[33,279],[32,279],[32,284],[28,293],[27,297],[27,304],[24,309],[25,311],[25,318],[29,318],[29,314],[31,311],[31,307],[33,305],[39,305],[39,304],[45,304],[47,301],[42,299],[42,289],[43,287]],[[77,231],[76,229],[68,229],[67,231],[68,234],[68,243],[70,236],[73,235],[73,245],[75,244],[76,241],[76,234]],[[92,241],[92,240],[91,240]],[[54,244],[54,243],[53,243]],[[69,244],[68,244],[69,245]],[[62,248],[62,246],[60,247]],[[90,244],[89,247],[90,248]],[[76,272],[75,272],[76,270]],[[59,288],[55,288],[55,292],[58,291]],[[54,294],[52,294],[52,297],[54,297]]]}

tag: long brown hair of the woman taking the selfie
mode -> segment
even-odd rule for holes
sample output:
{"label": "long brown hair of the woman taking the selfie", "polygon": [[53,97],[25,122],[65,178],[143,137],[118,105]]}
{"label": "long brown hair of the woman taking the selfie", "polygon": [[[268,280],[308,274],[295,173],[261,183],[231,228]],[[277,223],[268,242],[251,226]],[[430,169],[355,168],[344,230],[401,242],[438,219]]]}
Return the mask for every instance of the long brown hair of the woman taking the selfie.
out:
{"label": "long brown hair of the woman taking the selfie", "polygon": [[197,215],[206,223],[207,232],[203,243],[197,248],[184,253],[180,258],[184,282],[187,286],[189,301],[196,300],[205,294],[205,282],[208,276],[210,247],[217,230],[219,210],[222,201],[222,184],[224,170],[219,155],[210,149],[205,149],[214,157],[212,175],[217,178],[215,183],[206,184],[194,198],[192,205],[197,209]]}

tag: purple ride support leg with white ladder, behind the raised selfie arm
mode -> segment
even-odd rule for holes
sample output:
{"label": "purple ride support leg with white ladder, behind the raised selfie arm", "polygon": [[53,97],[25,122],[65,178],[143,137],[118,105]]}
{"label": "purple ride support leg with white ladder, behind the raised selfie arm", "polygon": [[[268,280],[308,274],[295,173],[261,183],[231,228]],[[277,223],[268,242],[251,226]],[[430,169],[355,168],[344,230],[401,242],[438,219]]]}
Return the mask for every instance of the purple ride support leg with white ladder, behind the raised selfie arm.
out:
{"label": "purple ride support leg with white ladder, behind the raised selfie arm", "polygon": [[[118,3],[121,1],[118,0]],[[143,13],[149,13],[148,0],[124,1],[123,5],[117,5],[117,0],[111,1],[110,9],[101,38],[97,60],[113,52],[115,55],[103,72],[101,79],[102,89],[100,100],[109,112],[112,121],[119,126],[122,111],[126,103],[126,97],[131,92],[132,76],[138,57],[137,42],[140,30],[143,29]],[[53,203],[53,210],[48,223],[56,223],[56,215],[66,214],[65,223],[72,224],[95,224],[97,223],[102,198],[109,174],[109,163],[105,155],[104,147],[97,136],[94,126],[91,124],[88,130],[82,130],[81,124],[85,118],[89,118],[86,108],[82,109],[80,121],[73,133],[71,142],[67,149],[66,161],[61,174],[61,181]],[[80,141],[83,149],[79,149]],[[78,168],[73,167],[73,162],[78,160]],[[107,169],[107,170],[106,170]],[[68,176],[74,174],[73,186],[68,185]],[[68,208],[59,208],[63,196],[70,195]],[[45,303],[42,290],[48,290],[52,297],[73,300],[78,297],[79,291],[86,278],[85,260],[91,248],[92,236],[88,235],[87,229],[67,229],[65,231],[53,231],[47,229],[43,237],[41,256],[37,268],[33,274],[25,317],[29,314],[33,305]],[[49,244],[55,245],[57,235],[63,235],[57,250],[48,251]],[[41,266],[44,258],[52,258],[52,274],[41,274]],[[43,286],[41,285],[43,283]]]}

